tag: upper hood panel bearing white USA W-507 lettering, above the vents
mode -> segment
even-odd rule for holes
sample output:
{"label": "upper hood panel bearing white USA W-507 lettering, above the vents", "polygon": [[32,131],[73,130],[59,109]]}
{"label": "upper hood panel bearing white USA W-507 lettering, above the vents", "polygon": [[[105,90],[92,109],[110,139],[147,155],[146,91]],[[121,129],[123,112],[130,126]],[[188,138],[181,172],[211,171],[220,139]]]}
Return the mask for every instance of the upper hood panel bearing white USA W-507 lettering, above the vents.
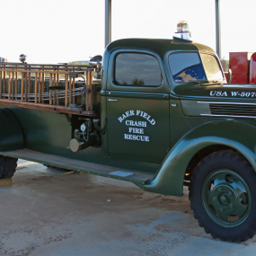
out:
{"label": "upper hood panel bearing white USA W-507 lettering, above the vents", "polygon": [[207,98],[213,101],[252,101],[256,103],[256,84],[181,84],[174,93],[181,98]]}

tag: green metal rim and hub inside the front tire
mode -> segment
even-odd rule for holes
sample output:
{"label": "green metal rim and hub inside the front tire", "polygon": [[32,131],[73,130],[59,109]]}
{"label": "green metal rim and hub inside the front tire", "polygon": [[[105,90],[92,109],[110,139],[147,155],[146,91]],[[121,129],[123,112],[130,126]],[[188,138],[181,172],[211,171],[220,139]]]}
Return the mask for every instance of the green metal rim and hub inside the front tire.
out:
{"label": "green metal rim and hub inside the front tire", "polygon": [[207,176],[202,200],[207,215],[218,225],[228,227],[243,223],[252,206],[247,184],[231,170],[216,170]]}

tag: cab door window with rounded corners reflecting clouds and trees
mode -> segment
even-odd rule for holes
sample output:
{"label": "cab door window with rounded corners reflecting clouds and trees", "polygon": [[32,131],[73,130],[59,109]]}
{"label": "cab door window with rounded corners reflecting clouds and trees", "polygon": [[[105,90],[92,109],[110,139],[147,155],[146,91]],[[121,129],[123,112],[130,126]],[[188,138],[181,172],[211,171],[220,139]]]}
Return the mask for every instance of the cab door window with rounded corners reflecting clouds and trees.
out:
{"label": "cab door window with rounded corners reflecting clouds and trees", "polygon": [[117,84],[159,86],[162,80],[156,57],[140,53],[120,53],[116,57],[115,82]]}

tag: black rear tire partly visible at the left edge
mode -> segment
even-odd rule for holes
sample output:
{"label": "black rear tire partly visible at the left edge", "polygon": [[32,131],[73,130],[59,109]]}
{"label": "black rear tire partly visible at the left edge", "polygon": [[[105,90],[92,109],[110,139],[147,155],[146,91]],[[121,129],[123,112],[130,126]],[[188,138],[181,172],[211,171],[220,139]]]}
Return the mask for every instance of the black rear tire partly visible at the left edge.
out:
{"label": "black rear tire partly visible at the left edge", "polygon": [[17,158],[0,156],[0,179],[11,179],[17,167]]}

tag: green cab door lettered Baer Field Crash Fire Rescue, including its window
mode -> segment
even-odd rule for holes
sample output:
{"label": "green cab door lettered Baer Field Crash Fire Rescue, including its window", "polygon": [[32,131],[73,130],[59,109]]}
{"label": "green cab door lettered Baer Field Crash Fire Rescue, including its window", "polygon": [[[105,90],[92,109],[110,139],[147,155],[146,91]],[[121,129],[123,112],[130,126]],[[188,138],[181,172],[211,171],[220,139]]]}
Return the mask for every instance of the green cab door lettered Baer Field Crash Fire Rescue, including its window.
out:
{"label": "green cab door lettered Baer Field Crash Fire Rescue, including its window", "polygon": [[161,163],[170,148],[169,86],[152,52],[117,50],[110,55],[107,82],[109,155]]}

